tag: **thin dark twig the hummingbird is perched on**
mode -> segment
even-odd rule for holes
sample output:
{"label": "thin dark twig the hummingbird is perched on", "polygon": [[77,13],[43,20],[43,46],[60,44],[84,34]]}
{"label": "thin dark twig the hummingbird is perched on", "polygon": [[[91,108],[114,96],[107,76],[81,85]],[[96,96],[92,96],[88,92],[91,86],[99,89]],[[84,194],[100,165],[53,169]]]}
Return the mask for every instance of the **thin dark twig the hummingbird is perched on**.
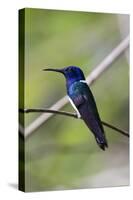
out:
{"label": "thin dark twig the hummingbird is perched on", "polygon": [[[53,113],[53,114],[58,114],[58,115],[64,115],[64,116],[73,117],[73,118],[78,119],[78,116],[77,116],[76,113],[71,113],[71,112],[66,112],[66,111],[57,111],[57,110],[40,109],[40,108],[39,109],[38,108],[30,108],[30,109],[24,109],[24,110],[20,108],[19,111],[22,112],[22,113],[46,112],[46,113]],[[109,124],[107,122],[104,122],[104,121],[101,121],[101,122],[102,122],[102,124],[104,126],[107,126],[108,128],[111,128],[111,129],[119,132],[120,134],[125,135],[126,137],[129,137],[129,134],[128,134],[127,131],[122,130],[122,129],[116,127],[116,126],[113,126],[113,125],[111,125],[111,124]]]}

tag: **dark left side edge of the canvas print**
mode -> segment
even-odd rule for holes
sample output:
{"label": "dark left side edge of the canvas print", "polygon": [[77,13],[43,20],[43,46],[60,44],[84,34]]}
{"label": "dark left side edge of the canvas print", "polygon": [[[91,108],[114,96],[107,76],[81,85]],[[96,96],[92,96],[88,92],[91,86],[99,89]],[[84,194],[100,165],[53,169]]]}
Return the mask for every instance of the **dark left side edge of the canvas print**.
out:
{"label": "dark left side edge of the canvas print", "polygon": [[[24,109],[25,72],[25,9],[19,10],[19,107]],[[19,123],[25,127],[24,115],[19,113]],[[18,188],[25,191],[25,138],[19,132],[19,176]]]}

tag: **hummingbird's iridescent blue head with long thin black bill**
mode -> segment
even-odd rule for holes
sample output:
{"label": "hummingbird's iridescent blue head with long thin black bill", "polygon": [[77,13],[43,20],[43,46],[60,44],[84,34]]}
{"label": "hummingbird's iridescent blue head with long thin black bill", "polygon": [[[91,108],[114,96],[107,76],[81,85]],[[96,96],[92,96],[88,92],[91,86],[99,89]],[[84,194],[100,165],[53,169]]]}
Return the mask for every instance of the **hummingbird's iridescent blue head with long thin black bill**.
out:
{"label": "hummingbird's iridescent blue head with long thin black bill", "polygon": [[76,81],[85,80],[82,70],[76,66],[69,66],[63,69],[44,69],[44,71],[55,71],[62,73],[65,76],[68,85]]}

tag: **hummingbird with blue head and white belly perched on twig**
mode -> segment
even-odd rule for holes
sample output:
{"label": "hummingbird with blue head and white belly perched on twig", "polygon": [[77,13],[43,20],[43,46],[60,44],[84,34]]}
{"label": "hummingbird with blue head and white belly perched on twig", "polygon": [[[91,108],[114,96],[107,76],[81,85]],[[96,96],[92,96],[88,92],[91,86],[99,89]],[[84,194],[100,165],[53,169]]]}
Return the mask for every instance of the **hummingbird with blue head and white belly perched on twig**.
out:
{"label": "hummingbird with blue head and white belly perched on twig", "polygon": [[77,66],[62,69],[43,69],[63,74],[66,78],[66,89],[69,101],[78,118],[82,118],[93,133],[97,144],[102,150],[108,147],[104,128],[98,113],[94,96],[87,85],[83,71]]}

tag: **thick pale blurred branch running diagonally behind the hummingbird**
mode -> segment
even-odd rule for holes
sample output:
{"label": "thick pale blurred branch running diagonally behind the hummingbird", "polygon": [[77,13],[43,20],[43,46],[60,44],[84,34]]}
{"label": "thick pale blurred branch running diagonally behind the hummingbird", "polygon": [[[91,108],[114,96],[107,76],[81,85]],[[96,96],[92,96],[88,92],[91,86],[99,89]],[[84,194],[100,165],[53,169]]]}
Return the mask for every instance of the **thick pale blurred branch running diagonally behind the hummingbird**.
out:
{"label": "thick pale blurred branch running diagonally behind the hummingbird", "polygon": [[[86,80],[88,85],[92,85],[98,77],[100,77],[105,70],[107,70],[111,64],[119,58],[119,56],[125,52],[129,46],[129,36],[127,36],[112,52],[105,57],[105,59],[95,67],[95,69],[87,76]],[[68,103],[67,96],[64,96],[62,99],[57,101],[53,106],[50,107],[50,110],[60,110],[63,106]],[[35,131],[39,126],[41,126],[45,121],[47,121],[53,113],[43,113],[37,119],[35,119],[24,132],[21,132],[25,137],[29,136],[33,131]]]}

